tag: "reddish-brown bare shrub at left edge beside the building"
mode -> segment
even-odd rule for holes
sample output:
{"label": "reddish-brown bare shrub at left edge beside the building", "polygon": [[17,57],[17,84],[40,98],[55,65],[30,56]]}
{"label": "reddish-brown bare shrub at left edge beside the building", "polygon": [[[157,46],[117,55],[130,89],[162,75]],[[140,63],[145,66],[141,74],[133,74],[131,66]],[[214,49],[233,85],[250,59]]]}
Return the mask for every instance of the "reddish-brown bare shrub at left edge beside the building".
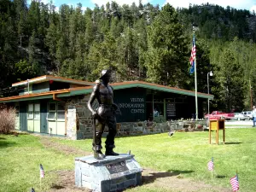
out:
{"label": "reddish-brown bare shrub at left edge beside the building", "polygon": [[4,108],[0,110],[0,133],[9,133],[15,130],[15,109]]}

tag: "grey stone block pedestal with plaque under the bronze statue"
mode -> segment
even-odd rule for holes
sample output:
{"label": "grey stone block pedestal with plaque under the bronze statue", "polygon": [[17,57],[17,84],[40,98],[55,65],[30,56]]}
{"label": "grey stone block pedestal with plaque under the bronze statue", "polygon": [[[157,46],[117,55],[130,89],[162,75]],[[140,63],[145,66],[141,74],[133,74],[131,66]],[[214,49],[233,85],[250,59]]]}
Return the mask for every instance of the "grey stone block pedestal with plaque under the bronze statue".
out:
{"label": "grey stone block pedestal with plaque under the bronze statue", "polygon": [[106,156],[96,160],[93,155],[75,159],[75,184],[93,191],[119,191],[142,183],[142,167],[132,154]]}

